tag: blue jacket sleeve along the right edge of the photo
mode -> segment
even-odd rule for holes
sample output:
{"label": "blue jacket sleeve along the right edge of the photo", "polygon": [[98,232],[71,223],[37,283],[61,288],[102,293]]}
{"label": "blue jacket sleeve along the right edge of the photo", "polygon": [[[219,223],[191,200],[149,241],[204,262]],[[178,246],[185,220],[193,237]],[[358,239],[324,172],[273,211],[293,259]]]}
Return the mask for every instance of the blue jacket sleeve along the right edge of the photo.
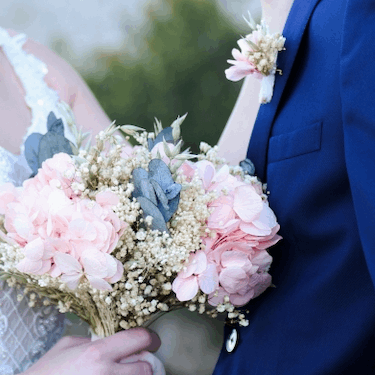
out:
{"label": "blue jacket sleeve along the right edge of the photo", "polygon": [[375,1],[347,0],[340,56],[346,166],[375,285]]}

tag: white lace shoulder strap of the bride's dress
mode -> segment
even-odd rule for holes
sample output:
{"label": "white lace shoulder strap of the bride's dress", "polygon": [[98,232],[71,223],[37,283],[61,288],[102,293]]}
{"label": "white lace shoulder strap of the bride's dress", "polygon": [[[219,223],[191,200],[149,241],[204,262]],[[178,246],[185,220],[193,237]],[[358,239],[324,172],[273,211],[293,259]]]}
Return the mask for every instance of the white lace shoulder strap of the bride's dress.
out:
{"label": "white lace shoulder strap of the bride's dress", "polygon": [[47,132],[47,117],[51,111],[57,118],[62,118],[65,137],[75,144],[75,137],[67,125],[65,113],[59,104],[59,95],[44,81],[48,73],[47,65],[22,49],[26,40],[25,34],[11,37],[5,29],[0,27],[0,46],[25,89],[25,101],[32,115],[31,126],[23,138],[21,153],[24,152],[24,142],[31,133],[45,134]]}

